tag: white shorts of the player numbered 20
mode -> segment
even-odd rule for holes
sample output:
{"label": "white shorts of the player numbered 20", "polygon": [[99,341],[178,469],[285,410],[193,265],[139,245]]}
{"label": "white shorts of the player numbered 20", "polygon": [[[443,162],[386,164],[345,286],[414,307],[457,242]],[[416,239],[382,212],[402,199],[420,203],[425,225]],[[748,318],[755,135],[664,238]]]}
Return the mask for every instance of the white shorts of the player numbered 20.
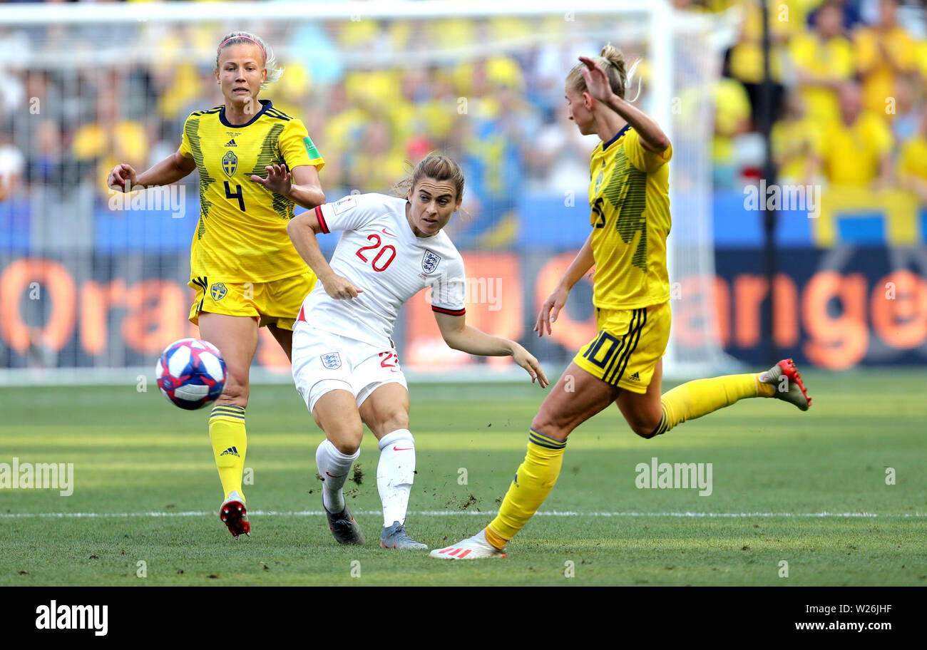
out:
{"label": "white shorts of the player numbered 20", "polygon": [[293,330],[293,381],[309,407],[331,391],[349,391],[363,404],[377,388],[400,383],[408,390],[396,350],[317,330],[298,322]]}

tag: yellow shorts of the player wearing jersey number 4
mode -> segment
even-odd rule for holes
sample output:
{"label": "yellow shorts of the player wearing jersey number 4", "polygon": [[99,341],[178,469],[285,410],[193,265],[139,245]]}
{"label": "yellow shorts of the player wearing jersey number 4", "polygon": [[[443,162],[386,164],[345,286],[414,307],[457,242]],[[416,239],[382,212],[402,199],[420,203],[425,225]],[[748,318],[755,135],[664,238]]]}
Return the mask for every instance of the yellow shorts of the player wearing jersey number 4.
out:
{"label": "yellow shorts of the player wearing jersey number 4", "polygon": [[273,282],[222,282],[194,278],[189,284],[197,290],[190,307],[190,322],[199,324],[199,312],[251,316],[259,327],[276,325],[292,330],[303,299],[315,286],[315,274],[306,270],[300,275]]}

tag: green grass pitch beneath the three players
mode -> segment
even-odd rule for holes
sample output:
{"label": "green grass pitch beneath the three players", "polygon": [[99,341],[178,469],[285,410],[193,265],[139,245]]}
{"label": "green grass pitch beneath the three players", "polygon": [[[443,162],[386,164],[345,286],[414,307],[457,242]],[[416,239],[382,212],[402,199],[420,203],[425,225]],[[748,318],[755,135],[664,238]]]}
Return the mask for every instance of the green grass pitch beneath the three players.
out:
{"label": "green grass pitch beneath the three players", "polygon": [[[291,386],[252,389],[253,532],[238,542],[216,514],[206,409],[181,411],[134,384],[4,389],[0,463],[73,463],[74,493],[0,490],[0,584],[927,584],[927,375],[803,377],[808,413],[746,400],[650,441],[608,409],[571,436],[547,514],[507,559],[481,562],[380,548],[370,433],[346,485],[367,544],[338,546],[311,514],[322,434]],[[411,394],[418,475],[407,523],[425,544],[451,544],[492,518],[543,392],[526,382],[413,384]],[[654,456],[711,463],[712,494],[639,489],[635,468]]]}

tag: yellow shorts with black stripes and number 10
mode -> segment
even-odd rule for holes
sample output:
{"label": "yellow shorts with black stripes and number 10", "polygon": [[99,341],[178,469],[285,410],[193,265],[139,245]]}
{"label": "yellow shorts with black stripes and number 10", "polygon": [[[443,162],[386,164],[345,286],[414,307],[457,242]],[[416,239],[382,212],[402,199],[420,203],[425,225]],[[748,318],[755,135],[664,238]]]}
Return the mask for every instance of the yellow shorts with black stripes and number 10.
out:
{"label": "yellow shorts with black stripes and number 10", "polygon": [[583,345],[576,365],[631,393],[646,393],[667,351],[669,303],[640,309],[596,309],[599,333]]}

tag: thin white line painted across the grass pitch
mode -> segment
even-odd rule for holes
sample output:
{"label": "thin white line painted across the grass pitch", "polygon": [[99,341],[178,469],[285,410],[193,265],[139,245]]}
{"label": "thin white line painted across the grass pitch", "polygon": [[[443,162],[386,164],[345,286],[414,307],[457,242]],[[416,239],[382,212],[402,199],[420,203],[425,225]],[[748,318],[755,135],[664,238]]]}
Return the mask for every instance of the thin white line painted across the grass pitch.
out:
{"label": "thin white line painted across the grass pitch", "polygon": [[[287,512],[274,512],[273,510],[248,510],[248,516],[267,517],[321,517],[322,510],[298,510]],[[381,515],[379,510],[362,510],[357,515]],[[411,516],[419,517],[456,517],[460,515],[473,515],[489,517],[491,512],[477,512],[476,510],[420,510],[410,512]],[[927,513],[911,514],[877,514],[874,512],[573,512],[573,511],[545,511],[535,513],[540,517],[702,517],[709,519],[749,519],[752,517],[817,517],[821,519],[857,519],[857,518],[923,518]],[[72,518],[101,518],[119,519],[129,517],[216,517],[213,511],[201,510],[177,512],[14,512],[0,513],[0,519],[72,519]]]}

